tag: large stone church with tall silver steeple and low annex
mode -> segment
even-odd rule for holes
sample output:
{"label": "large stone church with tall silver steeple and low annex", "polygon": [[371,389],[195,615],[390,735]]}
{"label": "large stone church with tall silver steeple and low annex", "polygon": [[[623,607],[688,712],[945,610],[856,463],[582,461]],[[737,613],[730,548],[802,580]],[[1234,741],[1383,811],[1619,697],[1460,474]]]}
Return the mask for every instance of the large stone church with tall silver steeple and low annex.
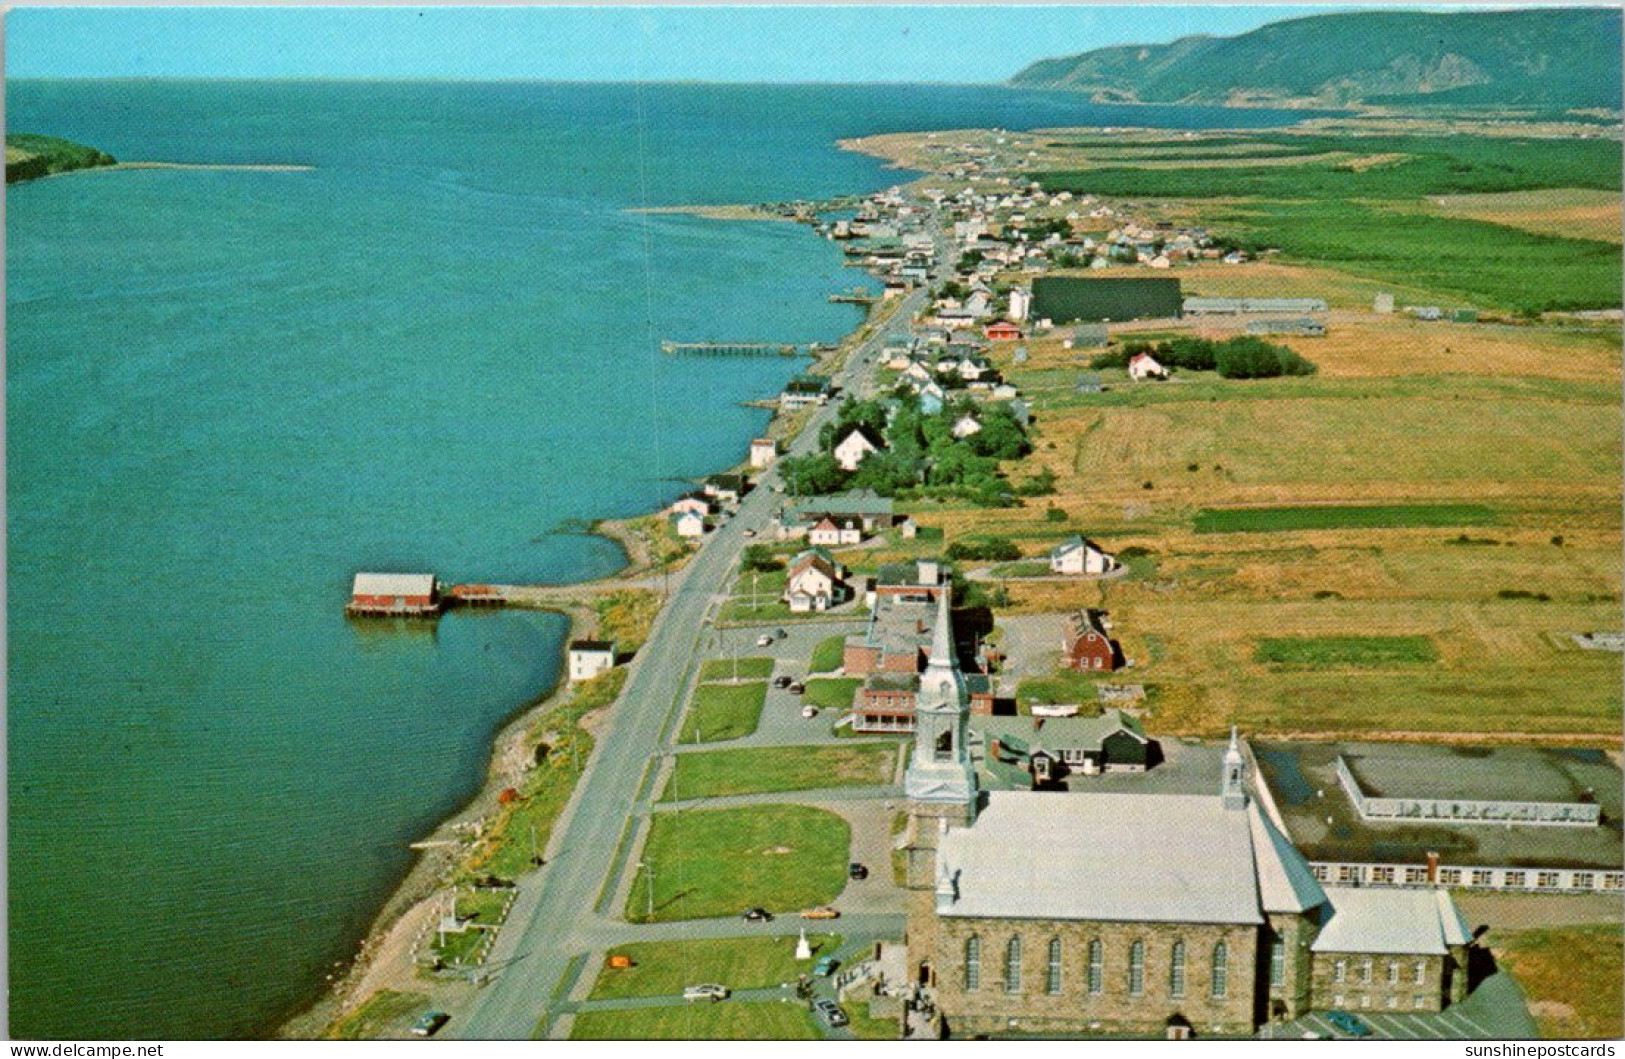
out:
{"label": "large stone church with tall silver steeple and low annex", "polygon": [[1436,1012],[1472,937],[1446,890],[1323,887],[1248,793],[982,791],[947,593],[905,789],[910,975],[954,1036],[1248,1036],[1311,1009]]}

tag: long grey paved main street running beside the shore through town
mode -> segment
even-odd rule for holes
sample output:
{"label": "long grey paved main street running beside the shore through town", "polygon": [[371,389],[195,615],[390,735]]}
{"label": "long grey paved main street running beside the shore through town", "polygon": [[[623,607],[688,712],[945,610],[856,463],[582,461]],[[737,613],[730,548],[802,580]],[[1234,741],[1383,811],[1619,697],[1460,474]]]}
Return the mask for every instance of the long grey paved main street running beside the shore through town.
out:
{"label": "long grey paved main street running beside the shore through town", "polygon": [[[925,304],[926,291],[912,291],[886,323],[907,323]],[[886,323],[876,326],[834,375],[843,393],[869,391],[889,333]],[[811,452],[819,429],[835,419],[835,403],[819,408],[788,453]],[[552,853],[546,867],[520,882],[507,926],[488,958],[488,966],[499,970],[474,996],[468,1017],[448,1027],[450,1036],[492,1040],[544,1033],[546,1027],[538,1023],[567,988],[572,958],[603,947],[601,931],[593,931],[595,923],[601,923],[600,895],[614,887],[632,859],[621,846],[630,833],[639,788],[645,772],[666,750],[668,731],[700,658],[713,606],[738,568],[748,539],[744,531],[765,530],[782,500],[774,489],[777,481],[774,469],[765,471],[734,518],[705,541],[681,578],[673,578],[674,588],[630,664],[626,690],[549,843]],[[619,914],[618,908],[606,911]],[[681,924],[676,927],[681,934]]]}

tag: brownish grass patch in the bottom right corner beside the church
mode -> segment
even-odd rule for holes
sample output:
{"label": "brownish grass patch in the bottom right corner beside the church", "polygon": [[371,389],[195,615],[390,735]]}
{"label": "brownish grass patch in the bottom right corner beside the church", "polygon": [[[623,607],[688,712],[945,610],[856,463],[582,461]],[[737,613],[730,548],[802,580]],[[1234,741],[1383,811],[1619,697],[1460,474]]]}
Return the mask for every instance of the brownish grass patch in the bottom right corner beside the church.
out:
{"label": "brownish grass patch in the bottom right corner beside the church", "polygon": [[1495,932],[1497,962],[1518,979],[1545,1040],[1625,1035],[1625,945],[1618,924]]}

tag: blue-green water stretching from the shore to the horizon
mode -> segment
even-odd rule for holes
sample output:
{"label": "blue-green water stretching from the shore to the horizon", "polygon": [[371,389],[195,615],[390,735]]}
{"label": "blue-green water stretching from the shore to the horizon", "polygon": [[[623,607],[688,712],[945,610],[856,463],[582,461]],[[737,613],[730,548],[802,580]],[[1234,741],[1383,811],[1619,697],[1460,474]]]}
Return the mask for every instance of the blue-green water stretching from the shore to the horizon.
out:
{"label": "blue-green water stretching from the shore to the horizon", "polygon": [[564,620],[353,624],[356,570],[614,572],[578,520],[734,463],[863,279],[630,206],[894,184],[842,136],[1280,123],[998,88],[13,81],[127,161],[6,193],[11,1033],[255,1036],[309,1004],[552,687]]}

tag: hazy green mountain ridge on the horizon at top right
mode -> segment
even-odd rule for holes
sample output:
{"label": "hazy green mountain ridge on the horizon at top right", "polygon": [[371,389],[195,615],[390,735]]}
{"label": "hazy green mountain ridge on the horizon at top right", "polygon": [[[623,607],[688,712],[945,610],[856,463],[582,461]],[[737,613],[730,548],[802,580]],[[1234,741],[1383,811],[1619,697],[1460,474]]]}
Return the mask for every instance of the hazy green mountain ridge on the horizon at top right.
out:
{"label": "hazy green mountain ridge on the horizon at top right", "polygon": [[1115,102],[1618,110],[1620,10],[1313,15],[1237,37],[1196,36],[1045,58],[1009,83]]}

